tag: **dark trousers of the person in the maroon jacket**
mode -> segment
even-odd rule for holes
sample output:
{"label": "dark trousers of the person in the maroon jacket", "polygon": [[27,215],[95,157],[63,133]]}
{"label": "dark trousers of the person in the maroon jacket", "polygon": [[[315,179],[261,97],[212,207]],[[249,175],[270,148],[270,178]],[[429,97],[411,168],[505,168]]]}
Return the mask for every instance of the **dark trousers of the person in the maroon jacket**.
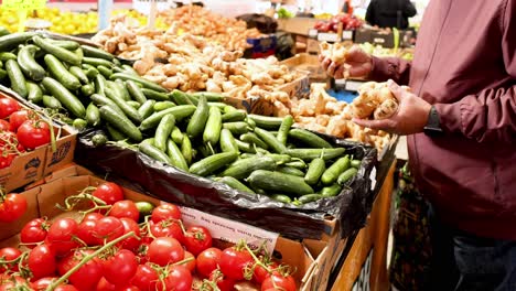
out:
{"label": "dark trousers of the person in the maroon jacket", "polygon": [[428,291],[516,290],[516,241],[477,237],[444,225],[432,207],[430,227]]}

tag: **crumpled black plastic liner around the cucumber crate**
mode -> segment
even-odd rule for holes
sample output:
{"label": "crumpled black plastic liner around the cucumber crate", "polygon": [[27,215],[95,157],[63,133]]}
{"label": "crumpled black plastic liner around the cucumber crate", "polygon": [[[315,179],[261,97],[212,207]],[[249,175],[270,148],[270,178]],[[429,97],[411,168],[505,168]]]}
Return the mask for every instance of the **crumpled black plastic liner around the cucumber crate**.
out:
{"label": "crumpled black plastic liner around the cucumber crate", "polygon": [[377,151],[363,144],[323,136],[362,159],[361,169],[337,196],[298,207],[189,174],[133,150],[116,146],[96,148],[90,142],[96,133],[99,130],[79,133],[75,152],[77,163],[127,180],[130,186],[142,188],[160,200],[276,231],[283,237],[320,239],[323,233],[331,231],[324,220],[334,217],[344,238],[364,226],[370,209],[368,204],[373,192],[369,175],[376,164]]}

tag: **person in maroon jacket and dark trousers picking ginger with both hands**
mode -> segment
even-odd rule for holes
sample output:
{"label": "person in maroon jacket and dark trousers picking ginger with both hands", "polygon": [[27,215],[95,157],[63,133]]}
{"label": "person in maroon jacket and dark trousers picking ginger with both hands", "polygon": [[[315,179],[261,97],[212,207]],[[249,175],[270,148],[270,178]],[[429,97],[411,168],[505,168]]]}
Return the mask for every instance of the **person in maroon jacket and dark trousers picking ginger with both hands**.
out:
{"label": "person in maroon jacket and dark trousers picking ginger with both hands", "polygon": [[431,0],[421,24],[412,62],[354,47],[322,63],[391,79],[397,114],[354,121],[408,136],[434,214],[429,289],[516,290],[516,0]]}

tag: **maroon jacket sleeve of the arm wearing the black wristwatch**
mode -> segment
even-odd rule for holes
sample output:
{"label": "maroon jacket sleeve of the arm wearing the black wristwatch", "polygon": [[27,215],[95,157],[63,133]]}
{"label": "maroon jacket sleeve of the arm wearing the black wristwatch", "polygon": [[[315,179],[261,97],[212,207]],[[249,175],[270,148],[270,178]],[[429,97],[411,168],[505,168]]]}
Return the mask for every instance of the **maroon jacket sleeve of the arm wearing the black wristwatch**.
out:
{"label": "maroon jacket sleeve of the arm wearing the black wristwatch", "polygon": [[[441,127],[479,142],[514,141],[516,133],[516,1],[508,0],[503,20],[502,52],[512,82],[469,95],[454,104],[437,104]],[[493,44],[495,45],[495,44]]]}

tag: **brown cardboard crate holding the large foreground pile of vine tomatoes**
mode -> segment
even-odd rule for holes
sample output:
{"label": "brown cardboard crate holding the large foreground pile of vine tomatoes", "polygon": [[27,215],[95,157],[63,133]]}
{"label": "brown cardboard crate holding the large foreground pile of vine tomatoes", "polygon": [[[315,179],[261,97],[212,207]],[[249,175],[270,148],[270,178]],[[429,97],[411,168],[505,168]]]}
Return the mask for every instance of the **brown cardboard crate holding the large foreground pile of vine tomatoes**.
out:
{"label": "brown cardboard crate holding the large foreground pile of vine tomatoes", "polygon": [[[26,213],[14,224],[0,223],[0,229],[2,229],[0,233],[0,247],[17,246],[19,244],[19,231],[24,224],[33,218],[43,216],[49,218],[62,217],[63,215],[73,216],[73,213],[63,214],[55,205],[63,203],[67,196],[77,194],[87,186],[97,186],[103,182],[105,181],[94,176],[92,172],[78,165],[71,165],[45,177],[44,184],[20,194],[28,198]],[[159,204],[158,200],[129,188],[123,188],[123,193],[128,200],[147,201],[154,205]],[[187,213],[187,209],[184,209],[184,213]],[[237,233],[239,233],[238,229],[243,233],[249,229],[256,229],[256,227],[241,223],[235,224],[226,218],[215,217],[209,214],[203,215],[214,219],[223,219],[226,222],[226,225],[235,225],[237,227]],[[203,226],[208,229],[211,227],[205,224],[203,224]],[[213,233],[213,229],[209,230]],[[325,290],[329,270],[322,267],[327,266],[325,263],[329,260],[327,250],[327,244],[325,241],[307,239],[300,242],[281,236],[277,238],[275,245],[275,255],[280,256],[282,262],[295,268],[297,271],[293,273],[293,277],[297,280],[299,290],[302,291]],[[257,289],[246,290],[252,291]]]}

